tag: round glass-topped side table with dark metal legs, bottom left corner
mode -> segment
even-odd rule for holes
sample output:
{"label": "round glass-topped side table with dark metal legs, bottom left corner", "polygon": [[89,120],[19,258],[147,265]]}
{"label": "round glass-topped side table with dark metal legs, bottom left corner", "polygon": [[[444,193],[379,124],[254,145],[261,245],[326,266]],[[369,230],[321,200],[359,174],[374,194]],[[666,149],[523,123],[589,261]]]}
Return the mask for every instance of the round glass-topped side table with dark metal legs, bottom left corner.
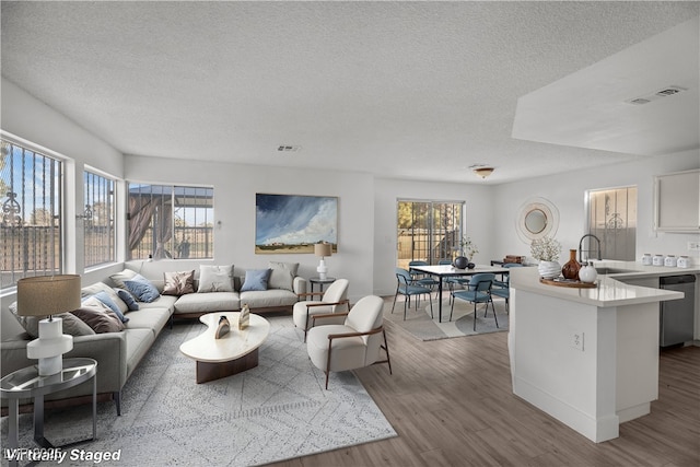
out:
{"label": "round glass-topped side table with dark metal legs, bottom left corner", "polygon": [[[0,396],[9,400],[8,446],[19,447],[20,399],[34,399],[34,441],[42,447],[56,447],[44,437],[44,396],[78,386],[92,380],[92,439],[97,439],[97,362],[93,359],[63,359],[63,370],[50,376],[39,376],[36,365],[18,370],[0,380]],[[65,446],[61,446],[65,447]],[[16,460],[10,465],[18,465]]]}

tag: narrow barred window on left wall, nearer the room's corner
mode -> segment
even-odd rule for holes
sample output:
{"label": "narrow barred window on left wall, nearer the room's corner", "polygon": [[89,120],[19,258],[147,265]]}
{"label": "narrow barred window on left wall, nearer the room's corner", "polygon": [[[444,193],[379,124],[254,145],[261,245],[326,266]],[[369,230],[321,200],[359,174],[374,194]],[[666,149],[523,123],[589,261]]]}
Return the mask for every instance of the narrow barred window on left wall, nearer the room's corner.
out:
{"label": "narrow barred window on left wall, nearer the room's corner", "polygon": [[114,180],[84,172],[85,267],[115,260]]}

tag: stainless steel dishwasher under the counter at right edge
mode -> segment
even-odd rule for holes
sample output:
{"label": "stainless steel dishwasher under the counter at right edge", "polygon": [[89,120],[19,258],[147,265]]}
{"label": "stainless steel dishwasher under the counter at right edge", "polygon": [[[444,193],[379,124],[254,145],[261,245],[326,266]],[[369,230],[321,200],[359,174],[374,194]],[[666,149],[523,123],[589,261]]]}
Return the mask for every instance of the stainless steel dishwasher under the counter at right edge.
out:
{"label": "stainless steel dishwasher under the counter at right edge", "polygon": [[661,289],[686,294],[679,300],[661,302],[660,346],[668,347],[691,341],[695,326],[696,277],[692,275],[658,278]]}

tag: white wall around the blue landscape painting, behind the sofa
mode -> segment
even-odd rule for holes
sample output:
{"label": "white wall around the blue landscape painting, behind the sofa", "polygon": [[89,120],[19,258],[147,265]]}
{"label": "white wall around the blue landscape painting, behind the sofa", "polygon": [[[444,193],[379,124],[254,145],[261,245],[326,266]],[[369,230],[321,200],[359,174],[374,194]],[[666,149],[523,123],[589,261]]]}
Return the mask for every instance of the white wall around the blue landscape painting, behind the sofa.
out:
{"label": "white wall around the blue landscape painting, behind the sofa", "polygon": [[132,182],[213,186],[214,222],[221,221],[214,230],[214,262],[234,264],[236,273],[275,260],[300,262],[300,276],[317,276],[319,258],[314,255],[255,254],[256,192],[337,196],[338,253],[326,258],[328,275],[350,281],[352,302],[372,293],[374,183],[370,175],[136,155],[127,155],[125,165],[125,177]]}

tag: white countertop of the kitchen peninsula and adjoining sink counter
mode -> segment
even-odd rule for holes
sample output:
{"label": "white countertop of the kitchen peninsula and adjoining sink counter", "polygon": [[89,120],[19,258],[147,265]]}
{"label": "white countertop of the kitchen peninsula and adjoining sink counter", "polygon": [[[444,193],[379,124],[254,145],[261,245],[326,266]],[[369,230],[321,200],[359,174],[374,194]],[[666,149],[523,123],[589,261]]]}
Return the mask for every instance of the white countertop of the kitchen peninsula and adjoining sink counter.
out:
{"label": "white countertop of the kitchen peninsula and adjoining sink counter", "polygon": [[597,307],[633,305],[640,303],[663,302],[682,299],[681,292],[630,285],[616,278],[654,278],[662,276],[697,275],[700,268],[667,268],[660,266],[642,266],[634,261],[595,261],[596,268],[610,267],[628,269],[633,272],[598,275],[595,289],[576,289],[549,285],[539,282],[537,268],[513,268],[511,288],[553,296],[572,302],[584,303]]}

